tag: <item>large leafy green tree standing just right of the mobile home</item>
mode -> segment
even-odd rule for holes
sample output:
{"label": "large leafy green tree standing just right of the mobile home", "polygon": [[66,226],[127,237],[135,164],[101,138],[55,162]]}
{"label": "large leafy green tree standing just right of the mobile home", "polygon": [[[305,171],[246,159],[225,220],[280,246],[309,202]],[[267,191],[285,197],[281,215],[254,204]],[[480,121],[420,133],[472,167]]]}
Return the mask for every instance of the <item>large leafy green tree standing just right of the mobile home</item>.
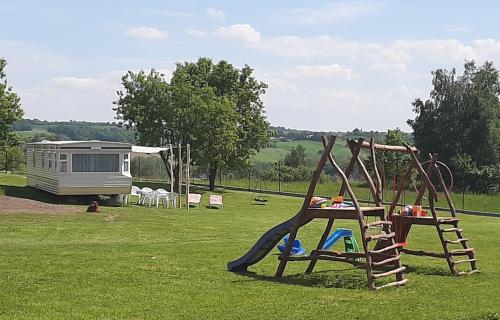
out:
{"label": "large leafy green tree standing just right of the mobile home", "polygon": [[[155,70],[128,72],[114,110],[144,145],[189,143],[193,161],[208,171],[213,190],[221,167],[246,165],[254,150],[269,140],[260,98],[267,85],[252,72],[249,66],[240,70],[207,58],[178,63],[170,83]],[[165,154],[162,159],[168,167]]]}

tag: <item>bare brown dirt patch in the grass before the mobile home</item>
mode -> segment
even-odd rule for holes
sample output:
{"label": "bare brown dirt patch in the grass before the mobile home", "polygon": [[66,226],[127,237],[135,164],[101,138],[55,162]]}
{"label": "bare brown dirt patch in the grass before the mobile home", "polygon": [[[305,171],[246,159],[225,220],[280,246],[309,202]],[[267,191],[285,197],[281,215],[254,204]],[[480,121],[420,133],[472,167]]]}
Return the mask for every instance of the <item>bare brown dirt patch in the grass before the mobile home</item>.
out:
{"label": "bare brown dirt patch in the grass before the mobile home", "polygon": [[17,198],[0,196],[0,213],[76,213],[82,212],[82,208],[67,205],[58,205]]}

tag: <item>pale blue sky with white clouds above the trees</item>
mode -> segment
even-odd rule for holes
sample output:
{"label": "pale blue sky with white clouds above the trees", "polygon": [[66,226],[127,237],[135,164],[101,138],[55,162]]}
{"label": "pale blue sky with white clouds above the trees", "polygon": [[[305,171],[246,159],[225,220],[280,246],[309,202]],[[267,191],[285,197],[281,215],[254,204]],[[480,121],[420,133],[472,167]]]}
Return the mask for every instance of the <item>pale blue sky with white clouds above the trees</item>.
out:
{"label": "pale blue sky with white clouds above the trees", "polygon": [[500,61],[497,1],[0,0],[0,57],[25,117],[114,121],[128,70],[209,57],[268,84],[271,125],[410,131],[431,71]]}

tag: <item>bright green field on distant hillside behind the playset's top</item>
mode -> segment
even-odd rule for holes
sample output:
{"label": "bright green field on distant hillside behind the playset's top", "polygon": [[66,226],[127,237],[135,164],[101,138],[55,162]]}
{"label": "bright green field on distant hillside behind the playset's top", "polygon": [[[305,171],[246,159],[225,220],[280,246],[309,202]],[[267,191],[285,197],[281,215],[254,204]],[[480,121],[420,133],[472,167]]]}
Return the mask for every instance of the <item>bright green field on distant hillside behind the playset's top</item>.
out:
{"label": "bright green field on distant hillside behind the playset's top", "polygon": [[[283,161],[285,156],[292,150],[292,148],[302,145],[306,150],[307,159],[312,162],[317,162],[321,157],[321,152],[323,152],[323,145],[318,141],[309,140],[293,140],[293,141],[277,141],[276,147],[261,149],[256,155],[252,157],[252,162],[277,162]],[[350,151],[346,147],[346,142],[344,140],[338,140],[332,151],[335,159],[340,163],[345,163],[350,159]]]}

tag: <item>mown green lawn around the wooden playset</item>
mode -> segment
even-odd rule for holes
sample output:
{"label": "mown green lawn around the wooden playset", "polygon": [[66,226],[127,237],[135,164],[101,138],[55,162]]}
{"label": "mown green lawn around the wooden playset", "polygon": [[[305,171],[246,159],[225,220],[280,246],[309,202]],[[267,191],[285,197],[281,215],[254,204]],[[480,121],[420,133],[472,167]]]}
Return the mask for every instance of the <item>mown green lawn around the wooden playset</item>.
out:
{"label": "mown green lawn around the wooden playset", "polygon": [[[6,187],[24,177],[0,175]],[[28,190],[29,188],[26,188]],[[366,289],[365,271],[334,262],[290,263],[275,255],[247,274],[226,271],[260,235],[294,215],[300,199],[224,192],[224,210],[101,207],[99,214],[0,214],[1,319],[498,319],[500,219],[461,216],[480,274],[454,278],[444,260],[403,256],[408,285]],[[311,249],[325,221],[301,229]],[[355,229],[354,222],[337,227]],[[411,248],[438,250],[431,227]],[[274,251],[273,253],[276,253]]]}

